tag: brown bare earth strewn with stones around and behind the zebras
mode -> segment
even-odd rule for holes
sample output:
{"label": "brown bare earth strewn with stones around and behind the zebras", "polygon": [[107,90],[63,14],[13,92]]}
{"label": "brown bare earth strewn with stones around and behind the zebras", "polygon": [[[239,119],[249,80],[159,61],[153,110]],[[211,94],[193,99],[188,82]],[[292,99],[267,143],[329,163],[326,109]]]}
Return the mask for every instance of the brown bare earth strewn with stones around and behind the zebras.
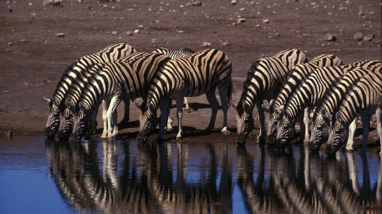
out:
{"label": "brown bare earth strewn with stones around and behind the zebras", "polygon": [[[42,97],[52,96],[65,68],[75,59],[114,43],[125,42],[139,52],[152,52],[156,47],[198,51],[203,42],[210,42],[232,61],[236,101],[251,63],[288,48],[298,48],[309,58],[336,54],[345,63],[382,60],[381,0],[238,0],[237,5],[231,0],[201,0],[202,5],[193,6],[194,2],[63,0],[63,7],[44,8],[42,0],[0,1],[1,133],[43,134],[48,107]],[[238,24],[239,18],[246,18],[246,22]],[[269,23],[264,23],[265,19]],[[139,33],[126,35],[136,29]],[[374,34],[375,38],[355,41],[357,32]],[[55,33],[65,36],[56,37]],[[327,34],[336,40],[325,41]],[[213,134],[202,131],[211,111],[205,96],[189,102],[195,111],[184,115],[184,141],[234,141],[234,133],[222,136],[218,129]],[[233,132],[235,113],[233,108],[228,111]],[[119,137],[136,137],[137,114],[131,105],[132,122],[128,128],[120,127]],[[171,114],[175,118],[175,110]],[[120,118],[122,115],[120,112]],[[98,122],[102,124],[100,116]],[[219,111],[216,128],[221,124]],[[255,126],[249,143],[256,141],[258,120]],[[374,142],[378,138],[375,121],[371,127],[369,138]],[[102,127],[98,128],[100,132]],[[362,136],[357,135],[359,141]],[[172,140],[174,136],[166,137]]]}

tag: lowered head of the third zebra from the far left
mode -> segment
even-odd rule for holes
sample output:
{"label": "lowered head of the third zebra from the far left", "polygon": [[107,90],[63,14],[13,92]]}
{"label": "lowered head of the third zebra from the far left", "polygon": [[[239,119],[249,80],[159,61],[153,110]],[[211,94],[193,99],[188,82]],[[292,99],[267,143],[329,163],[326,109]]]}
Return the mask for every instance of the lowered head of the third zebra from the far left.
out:
{"label": "lowered head of the third zebra from the far left", "polygon": [[75,141],[80,141],[90,130],[92,123],[91,114],[91,110],[87,109],[87,107],[82,104],[79,105],[79,109],[73,117],[73,138]]}

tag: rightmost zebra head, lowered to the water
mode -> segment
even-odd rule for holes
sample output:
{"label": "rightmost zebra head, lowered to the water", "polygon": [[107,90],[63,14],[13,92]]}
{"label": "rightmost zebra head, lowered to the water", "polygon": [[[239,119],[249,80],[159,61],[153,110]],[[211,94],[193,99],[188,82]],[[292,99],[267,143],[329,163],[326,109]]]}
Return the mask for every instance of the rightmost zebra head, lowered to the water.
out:
{"label": "rightmost zebra head, lowered to the water", "polygon": [[332,121],[329,128],[329,137],[327,139],[327,148],[325,152],[328,155],[335,154],[346,142],[349,134],[349,126],[346,125],[339,112],[335,114],[335,120]]}

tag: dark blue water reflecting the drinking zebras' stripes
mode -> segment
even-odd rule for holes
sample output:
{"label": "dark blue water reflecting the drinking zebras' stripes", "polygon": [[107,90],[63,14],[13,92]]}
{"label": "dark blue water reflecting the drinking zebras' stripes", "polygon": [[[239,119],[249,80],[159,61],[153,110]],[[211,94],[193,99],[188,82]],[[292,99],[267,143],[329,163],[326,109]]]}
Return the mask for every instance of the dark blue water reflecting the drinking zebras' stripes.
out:
{"label": "dark blue water reflecting the drinking zebras' stripes", "polygon": [[378,213],[377,153],[0,139],[0,213]]}

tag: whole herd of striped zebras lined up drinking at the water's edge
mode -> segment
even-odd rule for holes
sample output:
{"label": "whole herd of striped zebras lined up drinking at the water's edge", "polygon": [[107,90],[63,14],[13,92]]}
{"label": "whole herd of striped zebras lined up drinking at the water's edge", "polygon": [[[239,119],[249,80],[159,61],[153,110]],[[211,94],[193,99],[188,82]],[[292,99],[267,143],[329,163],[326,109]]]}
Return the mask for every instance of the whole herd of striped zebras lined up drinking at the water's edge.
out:
{"label": "whole herd of striped zebras lined up drinking at the water's edge", "polygon": [[[103,107],[102,138],[113,138],[117,132],[116,108],[124,102],[122,122],[129,121],[130,100],[142,98],[136,106],[139,113],[137,140],[145,141],[157,125],[157,109],[161,108],[160,134],[172,129],[169,106],[176,102],[178,133],[182,138],[183,104],[186,97],[206,94],[212,114],[207,130],[214,129],[218,111],[216,88],[223,110],[222,134],[229,134],[228,105],[237,110],[236,142],[245,144],[254,129],[253,108],[260,122],[259,140],[283,150],[295,135],[297,119],[300,141],[308,141],[311,150],[319,150],[327,142],[327,154],[346,145],[353,149],[356,121],[361,116],[363,144],[367,148],[371,115],[377,115],[377,132],[382,139],[382,62],[364,60],[343,64],[333,54],[308,60],[297,49],[288,49],[252,64],[247,73],[238,104],[231,102],[232,64],[228,56],[216,49],[193,52],[181,48],[170,51],[159,48],[153,53],[137,53],[128,44],[120,43],[83,56],[62,75],[49,105],[45,135],[59,139],[80,140],[94,133],[98,107]],[[269,107],[263,105],[267,100]],[[264,111],[268,112],[265,117]],[[311,111],[311,112],[310,112]],[[309,113],[310,112],[310,113]],[[309,122],[310,135],[309,135]],[[267,132],[265,127],[267,127]],[[382,148],[382,144],[381,144]],[[382,155],[382,149],[380,154]]]}

